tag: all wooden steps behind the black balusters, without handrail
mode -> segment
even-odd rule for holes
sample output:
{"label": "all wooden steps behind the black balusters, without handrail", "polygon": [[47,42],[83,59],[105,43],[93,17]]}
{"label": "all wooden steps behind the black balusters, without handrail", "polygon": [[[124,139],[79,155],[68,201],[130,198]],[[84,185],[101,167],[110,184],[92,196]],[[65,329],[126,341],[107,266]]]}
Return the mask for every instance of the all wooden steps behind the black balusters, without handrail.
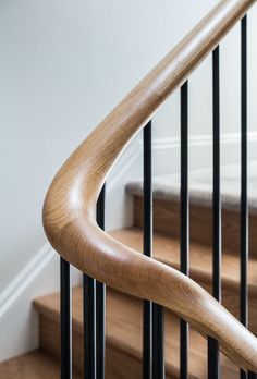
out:
{"label": "all wooden steps behind the black balusters, without handrail", "polygon": [[[205,175],[200,176],[201,180]],[[207,178],[207,176],[206,176]],[[169,185],[172,180],[172,186]],[[192,179],[194,183],[194,178]],[[154,182],[154,257],[179,269],[180,260],[180,201],[175,178],[160,178]],[[211,292],[211,203],[208,185],[198,181],[198,190],[191,192],[191,277]],[[201,193],[200,193],[201,187]],[[134,203],[134,224],[117,230],[111,236],[142,252],[143,246],[143,193],[140,183],[126,187]],[[203,194],[205,193],[205,201]],[[201,194],[199,196],[199,194]],[[222,252],[222,303],[238,317],[240,260],[237,249],[238,209],[236,195],[223,193],[223,252]],[[253,203],[254,204],[254,203]],[[250,207],[250,223],[257,222],[254,206]],[[253,228],[254,232],[254,228]],[[256,245],[252,246],[249,259],[249,329],[257,334],[257,260]],[[39,350],[0,365],[0,379],[58,378],[60,362],[60,296],[51,294],[34,302],[39,315]],[[143,302],[119,291],[107,291],[107,366],[108,379],[142,378]],[[166,311],[166,372],[167,378],[178,379],[180,329],[179,318]],[[83,301],[82,288],[73,289],[73,377],[83,378]],[[191,328],[189,378],[207,377],[206,340]],[[221,377],[240,378],[238,368],[221,355]],[[47,375],[46,375],[47,374]]]}

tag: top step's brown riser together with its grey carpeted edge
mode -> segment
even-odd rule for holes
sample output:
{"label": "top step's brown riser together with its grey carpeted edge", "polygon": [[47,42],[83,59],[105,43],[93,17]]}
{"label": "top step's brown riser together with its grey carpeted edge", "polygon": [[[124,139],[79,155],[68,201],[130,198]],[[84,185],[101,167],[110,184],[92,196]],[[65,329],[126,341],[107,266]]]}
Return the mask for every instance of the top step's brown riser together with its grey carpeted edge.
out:
{"label": "top step's brown riser together with its grey carpeted edge", "polygon": [[[142,183],[131,183],[126,187],[134,200],[134,225],[143,228]],[[212,203],[211,192],[191,192],[189,204],[191,241],[211,246]],[[180,193],[179,187],[154,185],[154,230],[172,237],[180,236]],[[240,252],[240,198],[222,196],[222,248],[238,256]],[[257,258],[257,205],[249,206],[249,256]]]}

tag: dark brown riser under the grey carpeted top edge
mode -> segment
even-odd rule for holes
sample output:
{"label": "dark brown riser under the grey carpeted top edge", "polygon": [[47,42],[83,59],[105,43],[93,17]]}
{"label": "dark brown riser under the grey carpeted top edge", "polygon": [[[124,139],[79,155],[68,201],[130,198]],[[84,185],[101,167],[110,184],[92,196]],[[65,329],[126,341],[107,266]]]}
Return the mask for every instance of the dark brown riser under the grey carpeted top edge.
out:
{"label": "dark brown riser under the grey carpeted top edge", "polygon": [[[143,197],[134,196],[134,225],[143,228]],[[154,199],[154,230],[167,235],[180,236],[180,203],[176,200]],[[191,241],[212,244],[212,209],[207,205],[191,204]],[[222,209],[222,247],[234,254],[240,252],[240,212],[236,209]],[[257,258],[257,215],[249,213],[249,254]]]}

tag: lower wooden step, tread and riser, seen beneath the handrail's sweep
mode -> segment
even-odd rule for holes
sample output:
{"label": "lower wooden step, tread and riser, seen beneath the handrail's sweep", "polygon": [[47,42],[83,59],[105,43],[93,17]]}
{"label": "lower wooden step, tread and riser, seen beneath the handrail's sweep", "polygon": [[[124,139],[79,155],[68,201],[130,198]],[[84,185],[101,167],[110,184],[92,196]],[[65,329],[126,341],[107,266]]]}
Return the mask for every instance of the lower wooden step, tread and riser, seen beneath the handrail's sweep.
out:
{"label": "lower wooden step, tread and riser, seen beneath the handrail's sweep", "polygon": [[[59,295],[45,296],[35,302],[40,316],[40,345],[58,357],[59,349]],[[83,371],[82,289],[73,291],[73,363]],[[142,301],[108,289],[107,292],[107,378],[140,379],[142,370]],[[205,379],[206,341],[196,331],[189,338],[191,379]],[[179,319],[166,315],[166,369],[169,379],[179,378]],[[126,368],[131,367],[127,372]],[[238,369],[222,356],[222,375],[236,379]]]}

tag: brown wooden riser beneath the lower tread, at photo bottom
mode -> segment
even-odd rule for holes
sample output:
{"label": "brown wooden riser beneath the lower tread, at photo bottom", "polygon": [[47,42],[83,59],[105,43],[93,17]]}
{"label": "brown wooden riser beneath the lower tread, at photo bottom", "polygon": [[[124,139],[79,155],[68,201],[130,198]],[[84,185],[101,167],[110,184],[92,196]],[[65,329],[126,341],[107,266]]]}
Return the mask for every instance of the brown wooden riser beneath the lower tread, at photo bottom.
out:
{"label": "brown wooden riser beneath the lower tread, at photo bottom", "polygon": [[[60,322],[48,316],[39,316],[40,347],[56,359],[60,359]],[[83,334],[73,328],[72,335],[73,365],[83,372]],[[140,359],[123,352],[109,343],[106,346],[107,379],[142,379]],[[167,379],[178,379],[178,376],[167,376]]]}

